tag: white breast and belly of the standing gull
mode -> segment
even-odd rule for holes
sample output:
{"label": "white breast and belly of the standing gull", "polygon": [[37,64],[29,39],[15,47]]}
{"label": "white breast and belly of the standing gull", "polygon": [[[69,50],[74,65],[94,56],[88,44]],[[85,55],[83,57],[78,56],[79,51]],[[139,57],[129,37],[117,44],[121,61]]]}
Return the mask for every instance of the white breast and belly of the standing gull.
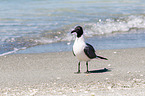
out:
{"label": "white breast and belly of the standing gull", "polygon": [[79,61],[89,61],[90,58],[84,53],[84,48],[86,43],[84,42],[83,36],[80,38],[76,38],[74,45],[73,45],[73,52],[76,55]]}

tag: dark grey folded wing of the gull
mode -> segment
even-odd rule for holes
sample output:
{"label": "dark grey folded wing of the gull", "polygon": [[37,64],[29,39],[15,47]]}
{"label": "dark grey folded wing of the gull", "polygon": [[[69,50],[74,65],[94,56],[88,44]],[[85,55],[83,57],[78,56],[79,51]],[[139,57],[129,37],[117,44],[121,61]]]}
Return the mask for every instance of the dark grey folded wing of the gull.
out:
{"label": "dark grey folded wing of the gull", "polygon": [[95,54],[95,49],[93,48],[92,45],[90,45],[88,43],[86,43],[86,47],[84,48],[84,52],[90,59],[97,57]]}

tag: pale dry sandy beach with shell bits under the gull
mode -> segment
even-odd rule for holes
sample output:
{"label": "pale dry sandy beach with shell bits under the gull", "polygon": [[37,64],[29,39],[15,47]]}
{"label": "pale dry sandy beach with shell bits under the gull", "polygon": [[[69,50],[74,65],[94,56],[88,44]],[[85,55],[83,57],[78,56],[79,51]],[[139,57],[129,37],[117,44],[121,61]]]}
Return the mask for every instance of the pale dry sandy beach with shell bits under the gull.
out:
{"label": "pale dry sandy beach with shell bits under the gull", "polygon": [[[85,74],[72,52],[14,54],[0,57],[1,96],[143,96],[145,48],[97,50]],[[106,69],[104,69],[106,68]]]}

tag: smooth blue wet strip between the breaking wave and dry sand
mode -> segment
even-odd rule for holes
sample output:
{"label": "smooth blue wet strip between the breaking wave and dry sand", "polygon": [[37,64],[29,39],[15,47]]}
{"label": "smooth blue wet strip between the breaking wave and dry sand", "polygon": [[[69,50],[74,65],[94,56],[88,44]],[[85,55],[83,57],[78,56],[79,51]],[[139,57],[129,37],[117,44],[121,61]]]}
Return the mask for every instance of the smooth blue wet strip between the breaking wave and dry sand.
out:
{"label": "smooth blue wet strip between the breaking wave and dry sand", "polygon": [[[144,36],[144,30],[138,30],[137,32],[131,30],[129,32],[85,38],[85,42],[92,44],[96,50],[142,48],[145,47]],[[72,51],[73,43],[74,40],[38,45],[25,50],[19,50],[14,54]]]}

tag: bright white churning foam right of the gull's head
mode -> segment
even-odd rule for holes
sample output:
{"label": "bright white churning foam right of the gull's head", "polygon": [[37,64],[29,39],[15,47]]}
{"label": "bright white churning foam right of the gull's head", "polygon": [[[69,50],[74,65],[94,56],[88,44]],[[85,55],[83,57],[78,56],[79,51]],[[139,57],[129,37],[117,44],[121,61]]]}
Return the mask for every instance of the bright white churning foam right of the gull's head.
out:
{"label": "bright white churning foam right of the gull's head", "polygon": [[145,28],[144,16],[129,16],[125,18],[99,20],[96,23],[85,24],[88,27],[85,31],[87,37],[93,35],[111,34],[113,32],[127,32],[132,28]]}

